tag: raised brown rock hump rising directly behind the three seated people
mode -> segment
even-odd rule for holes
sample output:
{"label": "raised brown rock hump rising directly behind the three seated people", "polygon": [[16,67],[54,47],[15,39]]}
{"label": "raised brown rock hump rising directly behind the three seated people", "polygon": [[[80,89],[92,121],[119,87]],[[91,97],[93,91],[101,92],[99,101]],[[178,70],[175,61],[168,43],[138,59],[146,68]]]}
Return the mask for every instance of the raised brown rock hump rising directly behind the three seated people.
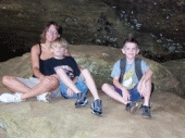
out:
{"label": "raised brown rock hump rising directly behind the three seated people", "polygon": [[[72,45],[70,51],[79,66],[88,68],[91,72],[98,89],[101,88],[103,83],[112,84],[112,78],[110,77],[112,66],[116,60],[123,57],[120,49],[100,46]],[[141,55],[138,57],[144,59],[153,71],[152,81],[156,85],[156,89],[170,90],[180,96],[182,95],[183,91],[180,87],[180,81],[166,67]],[[1,77],[3,75],[32,76],[29,53],[2,62],[0,70]]]}

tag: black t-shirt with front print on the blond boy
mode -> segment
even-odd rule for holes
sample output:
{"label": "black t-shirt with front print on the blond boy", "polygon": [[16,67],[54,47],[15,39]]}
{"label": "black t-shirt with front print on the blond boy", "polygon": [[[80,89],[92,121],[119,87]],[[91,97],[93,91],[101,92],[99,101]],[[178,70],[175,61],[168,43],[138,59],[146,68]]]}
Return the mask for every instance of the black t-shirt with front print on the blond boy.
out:
{"label": "black t-shirt with front print on the blond boy", "polygon": [[57,66],[61,66],[71,79],[81,74],[77,63],[72,57],[65,57],[64,59],[48,59],[45,61],[45,74],[47,76],[55,74],[54,67]]}

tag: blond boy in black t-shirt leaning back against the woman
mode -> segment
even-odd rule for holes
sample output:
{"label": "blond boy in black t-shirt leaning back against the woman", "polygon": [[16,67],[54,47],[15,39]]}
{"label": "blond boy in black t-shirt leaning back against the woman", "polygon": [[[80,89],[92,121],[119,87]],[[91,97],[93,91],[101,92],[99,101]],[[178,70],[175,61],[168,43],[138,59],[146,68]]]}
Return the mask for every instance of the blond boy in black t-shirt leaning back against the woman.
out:
{"label": "blond boy in black t-shirt leaning back against the woman", "polygon": [[84,106],[88,103],[87,91],[94,96],[91,113],[102,114],[102,103],[98,95],[97,87],[90,72],[86,68],[78,68],[77,63],[72,57],[65,57],[69,43],[63,38],[58,38],[51,42],[53,58],[45,63],[46,75],[55,74],[60,80],[61,95],[69,98],[77,98],[75,106]]}

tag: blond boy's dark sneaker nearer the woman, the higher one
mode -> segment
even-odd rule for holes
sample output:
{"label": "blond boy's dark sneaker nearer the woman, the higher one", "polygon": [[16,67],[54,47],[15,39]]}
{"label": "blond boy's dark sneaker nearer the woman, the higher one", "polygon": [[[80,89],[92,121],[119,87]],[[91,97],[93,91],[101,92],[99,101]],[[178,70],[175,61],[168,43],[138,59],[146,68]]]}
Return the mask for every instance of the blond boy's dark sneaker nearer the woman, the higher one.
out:
{"label": "blond boy's dark sneaker nearer the woman, the higher one", "polygon": [[75,102],[75,106],[84,106],[88,103],[86,93],[79,92],[77,93],[77,100]]}

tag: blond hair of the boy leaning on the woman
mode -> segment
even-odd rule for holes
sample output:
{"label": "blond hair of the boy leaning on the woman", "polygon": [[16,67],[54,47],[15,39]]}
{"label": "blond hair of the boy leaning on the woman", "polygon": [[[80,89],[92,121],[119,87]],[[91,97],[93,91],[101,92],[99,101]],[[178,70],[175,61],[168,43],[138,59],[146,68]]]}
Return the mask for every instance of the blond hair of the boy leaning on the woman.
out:
{"label": "blond hair of the boy leaning on the woman", "polygon": [[64,47],[65,49],[69,49],[69,42],[64,38],[57,38],[51,42],[51,48],[54,48],[57,45],[60,45],[61,47]]}

